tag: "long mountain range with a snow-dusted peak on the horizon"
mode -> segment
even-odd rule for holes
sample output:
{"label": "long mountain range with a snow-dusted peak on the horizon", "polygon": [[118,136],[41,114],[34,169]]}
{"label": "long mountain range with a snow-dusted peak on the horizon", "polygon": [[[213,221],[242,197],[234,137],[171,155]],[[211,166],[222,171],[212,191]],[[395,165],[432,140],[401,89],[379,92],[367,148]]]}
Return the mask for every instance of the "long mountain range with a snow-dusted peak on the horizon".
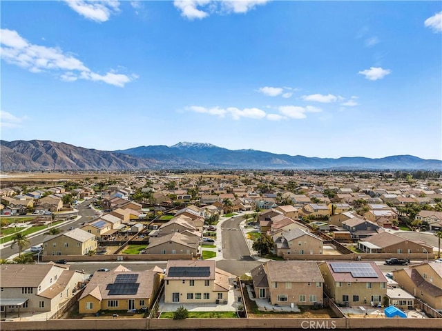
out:
{"label": "long mountain range with a snow-dusted peak on the horizon", "polygon": [[0,170],[442,170],[442,161],[396,155],[381,159],[290,156],[259,150],[228,150],[210,143],[139,146],[103,151],[53,141],[0,141]]}

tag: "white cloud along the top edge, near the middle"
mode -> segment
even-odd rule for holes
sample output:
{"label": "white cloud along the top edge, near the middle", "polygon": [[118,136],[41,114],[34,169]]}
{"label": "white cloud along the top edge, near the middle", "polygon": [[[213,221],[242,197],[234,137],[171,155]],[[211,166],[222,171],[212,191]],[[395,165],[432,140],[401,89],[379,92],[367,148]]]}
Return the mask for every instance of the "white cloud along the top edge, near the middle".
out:
{"label": "white cloud along the top edge, near the middle", "polygon": [[213,12],[220,14],[245,13],[269,0],[174,0],[173,5],[187,19],[204,19]]}

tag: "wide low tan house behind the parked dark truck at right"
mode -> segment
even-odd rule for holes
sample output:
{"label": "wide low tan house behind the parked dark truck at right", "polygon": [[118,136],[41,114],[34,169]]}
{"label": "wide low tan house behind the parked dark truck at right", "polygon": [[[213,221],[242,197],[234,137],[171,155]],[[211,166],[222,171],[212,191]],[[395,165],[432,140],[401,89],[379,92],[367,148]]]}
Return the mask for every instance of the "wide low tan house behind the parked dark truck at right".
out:
{"label": "wide low tan house behind the parked dark truck at right", "polygon": [[366,253],[422,253],[433,252],[433,247],[423,241],[404,239],[390,232],[373,234],[358,241],[358,248]]}

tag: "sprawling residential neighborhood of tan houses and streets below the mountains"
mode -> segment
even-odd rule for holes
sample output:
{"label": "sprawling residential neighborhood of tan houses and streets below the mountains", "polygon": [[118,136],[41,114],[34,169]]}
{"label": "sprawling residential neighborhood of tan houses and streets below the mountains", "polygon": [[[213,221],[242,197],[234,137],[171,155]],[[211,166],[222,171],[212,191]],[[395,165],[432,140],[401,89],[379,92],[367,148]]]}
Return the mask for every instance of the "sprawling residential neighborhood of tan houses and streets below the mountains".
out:
{"label": "sprawling residential neighborhood of tan houses and streets below the mountains", "polygon": [[[111,184],[89,177],[1,188],[2,239],[10,240],[1,241],[2,317],[76,309],[78,318],[152,318],[182,305],[249,318],[306,309],[387,318],[389,306],[442,318],[441,182],[384,176],[131,174]],[[429,199],[397,199],[407,192]],[[41,238],[32,249],[13,237],[25,231]],[[241,241],[245,252],[231,246]],[[10,246],[23,249],[3,257]],[[238,259],[226,259],[237,249]],[[238,272],[232,266],[244,256],[256,264]],[[410,263],[387,269],[390,258]],[[99,268],[106,261],[120,264]],[[161,266],[132,270],[128,261]]]}

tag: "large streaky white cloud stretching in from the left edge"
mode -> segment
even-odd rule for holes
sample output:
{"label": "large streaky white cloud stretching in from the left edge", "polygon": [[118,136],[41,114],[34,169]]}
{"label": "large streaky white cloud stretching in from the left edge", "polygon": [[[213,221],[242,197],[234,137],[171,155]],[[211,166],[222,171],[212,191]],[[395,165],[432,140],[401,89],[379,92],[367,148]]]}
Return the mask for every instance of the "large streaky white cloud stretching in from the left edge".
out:
{"label": "large streaky white cloud stretching in from the left edge", "polygon": [[137,78],[136,75],[129,77],[126,74],[117,74],[113,70],[104,75],[98,74],[60,48],[33,45],[14,30],[1,29],[0,35],[1,58],[7,63],[26,68],[30,72],[52,71],[57,72],[58,77],[63,81],[87,79],[103,81],[119,87]]}

